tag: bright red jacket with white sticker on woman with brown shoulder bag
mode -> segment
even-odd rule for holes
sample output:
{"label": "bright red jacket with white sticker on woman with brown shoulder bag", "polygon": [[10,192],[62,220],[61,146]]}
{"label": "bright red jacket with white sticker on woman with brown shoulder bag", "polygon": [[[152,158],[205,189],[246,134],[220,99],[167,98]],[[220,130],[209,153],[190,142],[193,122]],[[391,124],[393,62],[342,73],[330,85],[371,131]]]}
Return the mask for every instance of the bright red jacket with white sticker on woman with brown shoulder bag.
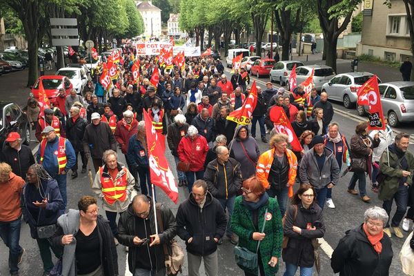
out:
{"label": "bright red jacket with white sticker on woman with brown shoulder bag", "polygon": [[190,163],[192,172],[204,170],[204,161],[208,152],[206,138],[197,135],[197,138],[192,140],[186,135],[179,141],[177,152],[180,161]]}

